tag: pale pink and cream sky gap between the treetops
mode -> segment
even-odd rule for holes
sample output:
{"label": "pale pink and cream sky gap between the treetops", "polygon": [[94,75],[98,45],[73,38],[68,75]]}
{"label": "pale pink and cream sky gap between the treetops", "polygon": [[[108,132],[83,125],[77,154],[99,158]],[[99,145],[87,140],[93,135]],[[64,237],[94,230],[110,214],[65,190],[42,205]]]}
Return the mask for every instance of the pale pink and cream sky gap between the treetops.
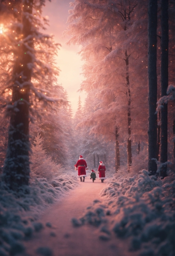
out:
{"label": "pale pink and cream sky gap between the treetops", "polygon": [[80,75],[83,62],[80,60],[80,55],[77,54],[80,49],[73,45],[67,46],[66,41],[68,41],[68,37],[61,38],[63,31],[68,26],[66,21],[69,16],[68,10],[70,9],[70,2],[71,0],[46,1],[46,7],[43,8],[43,16],[49,16],[50,20],[50,26],[47,27],[46,33],[54,34],[55,41],[62,46],[56,57],[61,70],[58,83],[62,83],[63,87],[67,90],[69,101],[71,102],[73,113],[75,114],[78,97],[80,95],[81,101],[84,103],[85,93],[77,92],[83,80],[83,76]]}

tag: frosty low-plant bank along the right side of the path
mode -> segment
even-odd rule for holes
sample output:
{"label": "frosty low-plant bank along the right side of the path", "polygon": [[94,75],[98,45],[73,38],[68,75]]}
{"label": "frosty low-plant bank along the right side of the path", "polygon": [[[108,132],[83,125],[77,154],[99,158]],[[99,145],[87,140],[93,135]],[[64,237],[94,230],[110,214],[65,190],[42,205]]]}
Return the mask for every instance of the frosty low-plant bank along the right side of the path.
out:
{"label": "frosty low-plant bank along the right side of the path", "polygon": [[120,172],[87,209],[74,226],[94,225],[102,240],[127,239],[134,255],[174,255],[174,174],[161,180],[146,170],[133,177]]}

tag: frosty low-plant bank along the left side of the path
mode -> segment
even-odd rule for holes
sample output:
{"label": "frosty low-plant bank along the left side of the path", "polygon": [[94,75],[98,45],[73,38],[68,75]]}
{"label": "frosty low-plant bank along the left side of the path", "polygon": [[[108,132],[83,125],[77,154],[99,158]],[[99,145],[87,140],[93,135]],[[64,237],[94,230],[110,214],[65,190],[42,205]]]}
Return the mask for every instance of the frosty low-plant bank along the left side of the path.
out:
{"label": "frosty low-plant bank along the left side of the path", "polygon": [[[78,186],[74,176],[58,176],[51,181],[35,179],[19,192],[5,189],[0,184],[0,255],[24,255],[22,240],[44,226],[38,222],[41,210]],[[46,223],[48,224],[48,223]]]}

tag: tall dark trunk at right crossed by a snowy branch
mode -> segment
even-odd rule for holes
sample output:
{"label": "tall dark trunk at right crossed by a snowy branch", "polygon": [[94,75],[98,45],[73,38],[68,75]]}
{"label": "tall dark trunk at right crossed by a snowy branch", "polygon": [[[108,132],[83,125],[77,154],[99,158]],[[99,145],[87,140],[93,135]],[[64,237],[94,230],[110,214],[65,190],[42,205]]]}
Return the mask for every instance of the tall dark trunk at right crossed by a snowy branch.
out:
{"label": "tall dark trunk at right crossed by a snowy branch", "polygon": [[[161,97],[167,95],[168,88],[168,0],[161,1]],[[160,162],[165,163],[168,160],[168,104],[163,104],[160,109]],[[161,168],[160,176],[165,177],[167,166]]]}

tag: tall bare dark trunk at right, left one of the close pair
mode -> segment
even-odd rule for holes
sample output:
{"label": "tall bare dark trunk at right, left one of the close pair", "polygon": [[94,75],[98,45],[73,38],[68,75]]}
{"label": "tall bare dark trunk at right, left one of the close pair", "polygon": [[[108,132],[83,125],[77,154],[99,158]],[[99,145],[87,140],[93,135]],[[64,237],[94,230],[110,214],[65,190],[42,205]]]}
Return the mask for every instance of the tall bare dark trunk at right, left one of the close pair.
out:
{"label": "tall bare dark trunk at right, left one of the close pair", "polygon": [[157,165],[157,0],[148,3],[148,171],[155,174]]}

